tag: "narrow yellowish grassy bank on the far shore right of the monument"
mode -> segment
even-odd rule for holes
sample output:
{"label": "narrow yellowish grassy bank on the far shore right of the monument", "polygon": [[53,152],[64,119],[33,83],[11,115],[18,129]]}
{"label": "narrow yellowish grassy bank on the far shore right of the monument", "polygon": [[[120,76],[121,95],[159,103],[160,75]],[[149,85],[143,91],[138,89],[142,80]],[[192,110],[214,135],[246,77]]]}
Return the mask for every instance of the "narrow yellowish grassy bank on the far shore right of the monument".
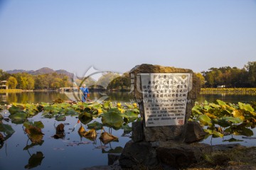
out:
{"label": "narrow yellowish grassy bank on the far shore right of the monument", "polygon": [[256,88],[201,88],[201,94],[251,94],[251,95],[256,95]]}

